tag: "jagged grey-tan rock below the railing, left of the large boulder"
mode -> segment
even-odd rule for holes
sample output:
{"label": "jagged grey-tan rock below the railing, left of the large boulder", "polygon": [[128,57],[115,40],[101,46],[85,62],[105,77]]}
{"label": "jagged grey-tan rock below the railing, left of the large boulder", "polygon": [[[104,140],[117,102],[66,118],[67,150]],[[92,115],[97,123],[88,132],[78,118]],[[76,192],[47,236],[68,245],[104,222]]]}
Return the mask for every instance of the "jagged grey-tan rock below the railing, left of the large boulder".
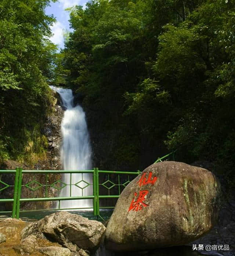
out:
{"label": "jagged grey-tan rock below the railing, left of the large boulder", "polygon": [[105,227],[99,221],[68,212],[57,212],[25,227],[21,237],[48,237],[73,252],[78,252],[80,248],[94,252],[99,247],[104,232]]}

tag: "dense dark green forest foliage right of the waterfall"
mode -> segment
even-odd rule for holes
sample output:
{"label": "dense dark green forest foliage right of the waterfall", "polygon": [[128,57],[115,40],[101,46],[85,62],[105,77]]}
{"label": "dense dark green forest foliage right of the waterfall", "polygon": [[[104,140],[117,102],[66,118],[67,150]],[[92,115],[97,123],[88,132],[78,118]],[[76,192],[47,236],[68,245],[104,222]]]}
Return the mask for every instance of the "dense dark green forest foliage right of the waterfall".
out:
{"label": "dense dark green forest foliage right of the waterfall", "polygon": [[180,161],[232,172],[234,0],[90,0],[70,22],[69,86],[106,134],[116,131],[112,161],[137,167],[165,145]]}

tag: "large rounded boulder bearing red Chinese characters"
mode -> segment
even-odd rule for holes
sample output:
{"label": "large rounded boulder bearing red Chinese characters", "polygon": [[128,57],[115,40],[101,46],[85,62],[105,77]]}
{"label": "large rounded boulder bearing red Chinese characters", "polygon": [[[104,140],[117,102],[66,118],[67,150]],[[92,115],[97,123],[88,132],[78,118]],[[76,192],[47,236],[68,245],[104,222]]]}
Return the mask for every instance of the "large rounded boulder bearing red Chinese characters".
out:
{"label": "large rounded boulder bearing red Chinese characters", "polygon": [[220,183],[210,171],[180,162],[147,167],[123,190],[109,220],[109,250],[184,245],[216,223]]}

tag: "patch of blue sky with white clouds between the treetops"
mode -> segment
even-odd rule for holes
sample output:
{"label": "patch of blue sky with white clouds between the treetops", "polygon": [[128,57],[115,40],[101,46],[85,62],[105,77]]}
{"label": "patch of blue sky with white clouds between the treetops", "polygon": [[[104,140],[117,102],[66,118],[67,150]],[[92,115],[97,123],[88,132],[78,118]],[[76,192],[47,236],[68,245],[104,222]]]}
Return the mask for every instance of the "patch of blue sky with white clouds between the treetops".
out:
{"label": "patch of blue sky with white clouds between the treetops", "polygon": [[86,6],[88,0],[58,0],[56,3],[51,2],[51,6],[46,8],[46,14],[54,14],[57,22],[51,27],[53,37],[51,41],[58,44],[60,48],[64,48],[63,31],[69,29],[69,12],[65,11],[66,8],[75,5]]}

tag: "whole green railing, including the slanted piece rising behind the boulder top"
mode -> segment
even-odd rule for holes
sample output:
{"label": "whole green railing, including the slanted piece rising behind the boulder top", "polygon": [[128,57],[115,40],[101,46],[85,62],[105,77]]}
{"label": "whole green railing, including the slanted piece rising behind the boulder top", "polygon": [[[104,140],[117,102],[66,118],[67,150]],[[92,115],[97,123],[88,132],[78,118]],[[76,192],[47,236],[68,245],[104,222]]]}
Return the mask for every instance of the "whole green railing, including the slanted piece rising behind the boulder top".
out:
{"label": "whole green railing, including the slanted piece rising behind the boulder top", "polygon": [[[173,160],[175,159],[175,151],[167,154],[166,156],[163,156],[162,158],[158,158],[156,162],[162,162],[163,160],[169,160],[169,157],[173,157]],[[155,163],[156,163],[155,162]],[[6,182],[2,180],[2,174],[9,173],[9,174],[15,174],[14,177],[14,185],[9,185]],[[62,174],[67,173],[70,174],[70,183],[66,184],[62,182],[61,180],[56,180],[52,184],[48,184],[48,174]],[[77,181],[75,184],[72,184],[72,174],[80,173],[82,174],[82,180]],[[88,183],[87,181],[83,180],[83,174],[84,173],[91,173],[93,175],[92,183]],[[23,175],[24,174],[32,174],[32,181],[28,182],[27,184],[22,184]],[[46,175],[46,182],[45,184],[41,184],[38,182],[35,178],[35,174],[45,174]],[[105,181],[104,179],[100,179],[100,175],[105,175]],[[100,216],[100,209],[110,209],[114,208],[114,206],[101,206],[100,207],[100,199],[110,199],[110,198],[118,198],[124,189],[126,185],[130,183],[130,181],[140,174],[140,171],[137,172],[121,172],[121,171],[107,171],[107,170],[99,170],[97,167],[95,167],[93,170],[22,170],[22,168],[17,167],[16,170],[0,170],[0,193],[1,191],[7,189],[7,188],[14,188],[13,198],[8,199],[1,199],[0,194],[0,203],[12,203],[12,211],[2,211],[0,213],[11,213],[12,218],[19,219],[20,213],[23,212],[36,212],[41,210],[20,210],[20,206],[22,202],[39,202],[39,201],[58,201],[58,208],[56,209],[43,209],[43,210],[81,210],[81,209],[93,209],[94,216]],[[120,176],[126,175],[127,178],[120,178]],[[110,178],[112,176],[112,178]],[[117,179],[115,179],[117,182],[113,182],[113,177],[117,176]],[[123,181],[121,181],[123,180]],[[82,187],[79,185],[80,182],[84,182],[86,185]],[[102,182],[104,181],[104,182]],[[60,184],[61,187],[58,187],[57,185]],[[33,187],[33,185],[36,185],[36,188]],[[52,187],[54,189],[58,190],[58,193],[61,191],[62,188],[65,186],[70,186],[70,194],[66,197],[48,197],[48,188]],[[82,190],[82,196],[72,196],[72,186],[76,186],[76,188]],[[84,196],[83,195],[83,189],[92,186],[93,195]],[[100,187],[103,189],[106,189],[108,191],[107,195],[100,195]],[[115,191],[117,191],[116,194],[110,193],[111,189],[115,187]],[[44,194],[45,197],[41,198],[21,198],[21,192],[22,188],[29,189],[31,191],[36,191],[41,188],[44,188]],[[93,207],[90,208],[61,208],[60,202],[63,200],[80,200],[80,199],[93,199]],[[100,216],[101,217],[101,216]],[[102,218],[102,217],[101,217]]]}

